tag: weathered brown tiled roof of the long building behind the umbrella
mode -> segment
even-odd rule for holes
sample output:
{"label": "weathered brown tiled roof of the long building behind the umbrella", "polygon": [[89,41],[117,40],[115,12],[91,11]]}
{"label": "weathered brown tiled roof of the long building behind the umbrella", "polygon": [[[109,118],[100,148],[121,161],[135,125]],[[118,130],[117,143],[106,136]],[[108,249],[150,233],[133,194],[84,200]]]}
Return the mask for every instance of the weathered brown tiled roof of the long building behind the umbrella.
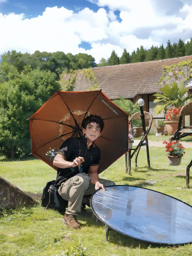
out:
{"label": "weathered brown tiled roof of the long building behind the umbrella", "polygon": [[192,60],[192,55],[93,68],[93,73],[100,84],[98,89],[102,89],[109,98],[119,98],[119,94],[124,98],[134,98],[137,94],[160,92],[160,85],[156,85],[156,83],[163,75],[164,66],[185,60]]}

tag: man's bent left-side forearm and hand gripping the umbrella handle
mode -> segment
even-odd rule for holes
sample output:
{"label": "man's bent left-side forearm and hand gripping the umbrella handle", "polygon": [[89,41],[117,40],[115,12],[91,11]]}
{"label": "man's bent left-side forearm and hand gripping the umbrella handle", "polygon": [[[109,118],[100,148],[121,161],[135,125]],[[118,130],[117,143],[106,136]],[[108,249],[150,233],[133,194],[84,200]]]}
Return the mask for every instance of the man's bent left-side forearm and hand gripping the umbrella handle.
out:
{"label": "man's bent left-side forearm and hand gripping the umbrella handle", "polygon": [[78,166],[82,162],[84,162],[84,158],[81,157],[81,156],[76,157],[73,160],[73,162],[66,161],[64,159],[64,156],[62,156],[61,154],[57,154],[55,156],[55,158],[53,159],[53,165],[56,166],[56,167],[62,168],[62,169]]}

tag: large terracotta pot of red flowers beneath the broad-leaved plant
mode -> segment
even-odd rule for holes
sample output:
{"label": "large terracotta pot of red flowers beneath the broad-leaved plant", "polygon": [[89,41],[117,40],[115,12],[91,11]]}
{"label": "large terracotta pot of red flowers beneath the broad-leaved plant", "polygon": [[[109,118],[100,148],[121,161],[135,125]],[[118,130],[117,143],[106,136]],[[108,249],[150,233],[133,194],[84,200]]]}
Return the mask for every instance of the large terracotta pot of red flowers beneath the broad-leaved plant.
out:
{"label": "large terracotta pot of red flowers beneath the broad-leaved plant", "polygon": [[179,123],[180,110],[181,110],[181,107],[178,107],[178,108],[172,107],[171,109],[168,109],[166,111],[164,123],[166,126],[166,131],[169,135],[173,135],[174,132],[177,130],[178,123]]}

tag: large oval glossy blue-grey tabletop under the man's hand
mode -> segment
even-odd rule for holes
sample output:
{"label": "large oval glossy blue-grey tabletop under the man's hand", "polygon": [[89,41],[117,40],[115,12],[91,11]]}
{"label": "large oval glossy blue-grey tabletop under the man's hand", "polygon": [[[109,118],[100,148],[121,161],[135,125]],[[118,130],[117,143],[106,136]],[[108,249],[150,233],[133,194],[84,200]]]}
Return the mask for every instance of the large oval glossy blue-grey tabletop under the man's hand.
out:
{"label": "large oval glossy blue-grey tabletop under the man's hand", "polygon": [[111,229],[166,245],[192,242],[192,207],[146,188],[109,186],[91,197],[92,211]]}

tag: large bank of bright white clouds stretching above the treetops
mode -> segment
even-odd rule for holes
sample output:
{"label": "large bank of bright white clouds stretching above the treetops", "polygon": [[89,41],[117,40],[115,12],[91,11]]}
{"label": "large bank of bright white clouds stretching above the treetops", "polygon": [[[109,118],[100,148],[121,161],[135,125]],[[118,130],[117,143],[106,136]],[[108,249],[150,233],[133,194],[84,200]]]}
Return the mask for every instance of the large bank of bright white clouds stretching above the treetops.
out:
{"label": "large bank of bright white clouds stretching above the treetops", "polygon": [[[3,0],[4,1],[4,0]],[[82,52],[93,55],[96,62],[109,58],[111,51],[122,55],[126,48],[130,53],[143,45],[161,45],[171,38],[186,41],[192,34],[192,5],[185,4],[180,13],[185,18],[157,14],[151,0],[91,0],[101,8],[94,12],[85,8],[74,13],[64,7],[46,8],[43,15],[28,19],[25,14],[0,13],[0,53],[16,49],[33,53],[39,51]],[[2,2],[2,0],[0,0]],[[110,11],[103,8],[108,6]],[[115,10],[120,11],[122,21],[117,21]],[[2,26],[3,24],[3,26]],[[141,36],[137,30],[148,30]],[[92,49],[79,48],[81,42],[90,43]]]}

